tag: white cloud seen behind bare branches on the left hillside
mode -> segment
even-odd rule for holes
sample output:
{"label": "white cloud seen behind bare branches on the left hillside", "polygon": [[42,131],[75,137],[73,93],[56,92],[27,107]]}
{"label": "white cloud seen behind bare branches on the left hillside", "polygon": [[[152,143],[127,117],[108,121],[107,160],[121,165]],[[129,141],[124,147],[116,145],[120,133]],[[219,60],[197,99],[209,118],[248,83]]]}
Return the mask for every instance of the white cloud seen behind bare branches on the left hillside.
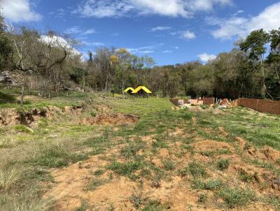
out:
{"label": "white cloud seen behind bare branches on the left hillside", "polygon": [[71,45],[69,45],[69,43],[67,43],[67,41],[60,37],[60,36],[47,36],[47,35],[42,35],[40,40],[43,43],[47,43],[50,44],[52,46],[58,47],[58,46],[62,46],[63,48],[68,48],[68,50],[70,50],[70,52],[72,54],[80,54],[80,52],[78,52],[78,50],[76,50],[76,48],[73,48]]}

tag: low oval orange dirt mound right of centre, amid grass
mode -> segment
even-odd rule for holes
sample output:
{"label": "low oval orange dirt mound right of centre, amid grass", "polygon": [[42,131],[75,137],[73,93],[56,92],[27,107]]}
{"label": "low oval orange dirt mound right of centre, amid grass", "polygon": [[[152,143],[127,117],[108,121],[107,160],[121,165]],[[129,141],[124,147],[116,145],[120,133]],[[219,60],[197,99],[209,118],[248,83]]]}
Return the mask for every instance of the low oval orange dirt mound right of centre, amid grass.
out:
{"label": "low oval orange dirt mound right of centre, amid grass", "polygon": [[233,147],[228,143],[218,142],[216,140],[202,140],[193,145],[195,151],[207,152],[207,151],[216,151],[216,150],[229,150],[233,151]]}

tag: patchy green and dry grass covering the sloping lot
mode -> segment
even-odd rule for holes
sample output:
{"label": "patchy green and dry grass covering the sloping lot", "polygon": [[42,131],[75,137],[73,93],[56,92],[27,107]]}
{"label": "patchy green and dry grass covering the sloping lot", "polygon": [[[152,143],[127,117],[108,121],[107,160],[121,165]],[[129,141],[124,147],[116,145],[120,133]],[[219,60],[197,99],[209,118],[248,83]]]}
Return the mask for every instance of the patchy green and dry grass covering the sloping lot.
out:
{"label": "patchy green and dry grass covering the sloping lot", "polygon": [[[0,94],[1,108],[19,108],[18,91],[6,90],[5,95]],[[2,98],[1,98],[2,96]],[[4,96],[4,97],[3,97]],[[10,99],[9,99],[10,98]],[[4,101],[1,99],[4,99]],[[107,157],[111,163],[92,172],[92,181],[86,189],[94,191],[110,182],[113,175],[104,178],[106,170],[112,170],[113,174],[129,177],[141,185],[144,178],[149,183],[156,182],[159,186],[162,180],[168,182],[176,175],[185,177],[186,184],[199,192],[197,203],[211,204],[215,198],[223,201],[222,208],[241,208],[260,201],[279,208],[279,198],[271,197],[271,200],[261,201],[255,197],[250,189],[230,187],[230,184],[221,182],[223,178],[210,177],[213,173],[225,174],[232,161],[230,159],[218,159],[222,154],[231,154],[228,150],[216,150],[195,152],[193,143],[195,138],[219,140],[233,144],[236,136],[247,141],[246,145],[262,147],[269,145],[280,150],[280,117],[276,115],[258,115],[244,108],[227,109],[222,115],[214,115],[211,112],[190,112],[189,110],[171,110],[168,99],[113,99],[111,96],[102,98],[101,94],[71,92],[62,93],[50,99],[41,99],[37,96],[25,98],[24,110],[32,108],[44,108],[46,106],[77,106],[87,102],[92,108],[94,103],[105,103],[113,112],[124,112],[140,117],[136,125],[125,126],[86,126],[71,122],[71,117],[61,117],[57,120],[42,118],[38,127],[31,130],[27,126],[3,126],[0,128],[0,210],[55,210],[54,202],[42,199],[42,193],[46,187],[42,184],[54,182],[50,175],[52,168],[62,168],[71,163],[83,161],[92,155],[104,154],[106,150],[117,149],[120,144],[125,147]],[[205,107],[206,108],[206,107]],[[86,110],[83,115],[94,117],[98,112]],[[192,117],[197,119],[197,125],[192,124]],[[228,137],[219,137],[217,127],[223,126],[229,133]],[[115,131],[114,129],[117,130]],[[169,136],[167,131],[176,128],[183,129],[183,134]],[[211,129],[213,132],[208,133]],[[150,144],[141,141],[140,136],[155,134],[156,142]],[[134,140],[130,136],[135,136]],[[188,135],[185,137],[185,135]],[[116,137],[122,140],[116,141]],[[179,147],[173,147],[175,142],[181,142]],[[162,159],[162,168],[153,165],[149,159],[158,157],[160,148],[168,148],[169,154],[176,154],[177,159],[169,157]],[[139,156],[137,152],[144,150],[145,154]],[[212,159],[211,163],[197,161],[195,156]],[[241,154],[241,153],[240,153]],[[191,162],[186,164],[181,160],[191,157]],[[147,158],[147,159],[146,159]],[[215,161],[214,161],[215,159]],[[246,158],[244,163],[251,163],[258,168],[265,168],[269,173],[280,176],[280,159],[278,163],[268,161],[250,160]],[[189,161],[188,161],[189,162]],[[97,163],[98,164],[98,163]],[[223,170],[224,172],[217,172]],[[209,178],[207,178],[209,177]],[[236,175],[232,175],[236,177]],[[115,178],[115,177],[114,177]],[[252,185],[252,176],[240,173],[237,176],[238,184],[248,187]],[[224,180],[223,180],[224,181]],[[226,187],[224,187],[226,185]],[[158,188],[158,187],[155,187]],[[185,188],[185,187],[184,187]],[[15,194],[17,193],[17,194]],[[20,193],[20,195],[18,195]],[[213,196],[214,195],[214,196]],[[158,199],[134,196],[130,198],[137,210],[167,210],[170,204],[165,204]],[[82,203],[78,210],[89,209],[87,203]],[[190,208],[190,210],[193,208]],[[110,205],[107,210],[115,210]]]}

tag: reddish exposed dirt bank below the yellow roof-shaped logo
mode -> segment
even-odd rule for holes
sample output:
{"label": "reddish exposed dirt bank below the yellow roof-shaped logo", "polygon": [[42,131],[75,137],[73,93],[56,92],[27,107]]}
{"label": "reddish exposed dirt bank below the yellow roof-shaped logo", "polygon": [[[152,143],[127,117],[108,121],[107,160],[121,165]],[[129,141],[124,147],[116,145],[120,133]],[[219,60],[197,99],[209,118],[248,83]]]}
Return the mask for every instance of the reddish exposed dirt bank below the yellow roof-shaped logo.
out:
{"label": "reddish exposed dirt bank below the yellow roof-shaped logo", "polygon": [[139,121],[139,117],[134,115],[118,114],[101,114],[96,117],[87,117],[83,119],[83,124],[133,124]]}

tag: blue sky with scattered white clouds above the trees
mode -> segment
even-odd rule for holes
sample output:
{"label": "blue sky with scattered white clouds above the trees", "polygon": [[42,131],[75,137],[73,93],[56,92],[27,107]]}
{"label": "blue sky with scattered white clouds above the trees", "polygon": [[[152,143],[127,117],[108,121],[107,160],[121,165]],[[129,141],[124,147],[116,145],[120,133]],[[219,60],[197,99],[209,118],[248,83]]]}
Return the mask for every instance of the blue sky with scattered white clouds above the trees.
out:
{"label": "blue sky with scattered white clouds above the trees", "polygon": [[76,38],[76,49],[127,48],[158,65],[214,59],[256,29],[280,27],[275,0],[0,0],[6,22]]}

